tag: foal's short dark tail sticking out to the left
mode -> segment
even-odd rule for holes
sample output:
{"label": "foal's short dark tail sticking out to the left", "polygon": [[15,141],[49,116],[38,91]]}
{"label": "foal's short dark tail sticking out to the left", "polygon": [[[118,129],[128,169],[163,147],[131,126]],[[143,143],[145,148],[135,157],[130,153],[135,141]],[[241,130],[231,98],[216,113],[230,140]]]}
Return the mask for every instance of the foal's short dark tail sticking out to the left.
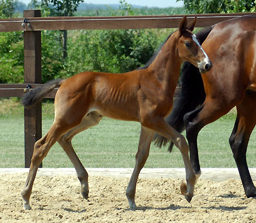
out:
{"label": "foal's short dark tail sticking out to the left", "polygon": [[23,106],[25,108],[30,108],[38,101],[44,99],[48,93],[60,86],[63,82],[64,80],[62,79],[51,80],[38,88],[30,89],[22,98]]}

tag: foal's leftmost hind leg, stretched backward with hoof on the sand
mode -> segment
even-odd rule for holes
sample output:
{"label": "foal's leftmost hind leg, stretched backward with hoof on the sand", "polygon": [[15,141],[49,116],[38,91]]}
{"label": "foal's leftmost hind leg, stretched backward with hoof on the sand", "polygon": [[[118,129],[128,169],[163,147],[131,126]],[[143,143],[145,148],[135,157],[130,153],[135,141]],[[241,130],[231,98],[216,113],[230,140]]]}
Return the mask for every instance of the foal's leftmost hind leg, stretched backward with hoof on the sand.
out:
{"label": "foal's leftmost hind leg, stretched backward with hoof on the sand", "polygon": [[67,130],[68,128],[61,126],[61,122],[54,122],[49,131],[44,135],[44,137],[42,137],[35,143],[27,181],[25,183],[25,187],[21,192],[23,208],[25,210],[31,209],[30,195],[32,191],[33,182],[36,177],[36,172],[38,167],[40,166],[40,163],[46,157],[47,153],[49,152],[50,148],[54,145],[54,143],[61,137],[62,134],[65,134]]}

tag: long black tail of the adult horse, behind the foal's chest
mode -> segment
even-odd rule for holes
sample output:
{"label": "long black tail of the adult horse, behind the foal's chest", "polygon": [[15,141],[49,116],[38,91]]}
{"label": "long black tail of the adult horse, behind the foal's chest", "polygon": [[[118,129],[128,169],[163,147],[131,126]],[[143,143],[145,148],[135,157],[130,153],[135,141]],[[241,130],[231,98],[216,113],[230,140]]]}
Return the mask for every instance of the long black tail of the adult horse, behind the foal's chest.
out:
{"label": "long black tail of the adult horse, behind the foal's chest", "polygon": [[[205,41],[209,35],[212,27],[204,28],[196,34],[197,39],[202,42]],[[166,118],[166,122],[170,124],[178,132],[185,129],[183,117],[186,113],[191,112],[197,106],[202,104],[205,100],[204,83],[199,69],[190,62],[185,62],[181,70],[181,92],[174,100],[173,109],[170,115]],[[158,147],[166,146],[170,141],[160,134],[155,134],[153,140]],[[168,151],[172,151],[173,143],[170,143]]]}

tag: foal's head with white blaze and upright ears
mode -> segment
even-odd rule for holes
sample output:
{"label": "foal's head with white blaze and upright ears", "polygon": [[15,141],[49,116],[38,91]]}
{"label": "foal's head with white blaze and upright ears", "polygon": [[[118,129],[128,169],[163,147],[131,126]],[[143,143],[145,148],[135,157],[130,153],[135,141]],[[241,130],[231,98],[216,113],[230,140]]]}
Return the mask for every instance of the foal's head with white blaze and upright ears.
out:
{"label": "foal's head with white blaze and upright ears", "polygon": [[178,56],[183,61],[189,61],[198,67],[201,73],[209,71],[212,67],[211,61],[202,49],[196,36],[192,33],[196,24],[196,18],[187,25],[187,17],[184,16],[178,29]]}

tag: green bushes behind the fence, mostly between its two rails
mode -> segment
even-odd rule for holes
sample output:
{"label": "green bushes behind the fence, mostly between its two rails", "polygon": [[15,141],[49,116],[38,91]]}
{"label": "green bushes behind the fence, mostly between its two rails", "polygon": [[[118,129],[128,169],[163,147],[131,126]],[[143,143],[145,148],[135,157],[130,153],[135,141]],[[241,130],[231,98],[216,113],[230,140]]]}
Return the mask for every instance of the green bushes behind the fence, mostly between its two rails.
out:
{"label": "green bushes behind the fence, mostly between its two rails", "polygon": [[[117,10],[109,8],[106,12],[113,15],[138,12],[125,1],[120,3]],[[42,7],[41,10],[42,16],[51,16],[49,7]],[[154,13],[159,14],[157,9]],[[85,70],[115,73],[134,70],[149,60],[170,32],[163,29],[69,31],[69,56],[63,59],[61,33],[42,31],[42,82],[69,77]],[[21,32],[0,33],[0,55],[0,83],[22,83],[24,59]]]}

